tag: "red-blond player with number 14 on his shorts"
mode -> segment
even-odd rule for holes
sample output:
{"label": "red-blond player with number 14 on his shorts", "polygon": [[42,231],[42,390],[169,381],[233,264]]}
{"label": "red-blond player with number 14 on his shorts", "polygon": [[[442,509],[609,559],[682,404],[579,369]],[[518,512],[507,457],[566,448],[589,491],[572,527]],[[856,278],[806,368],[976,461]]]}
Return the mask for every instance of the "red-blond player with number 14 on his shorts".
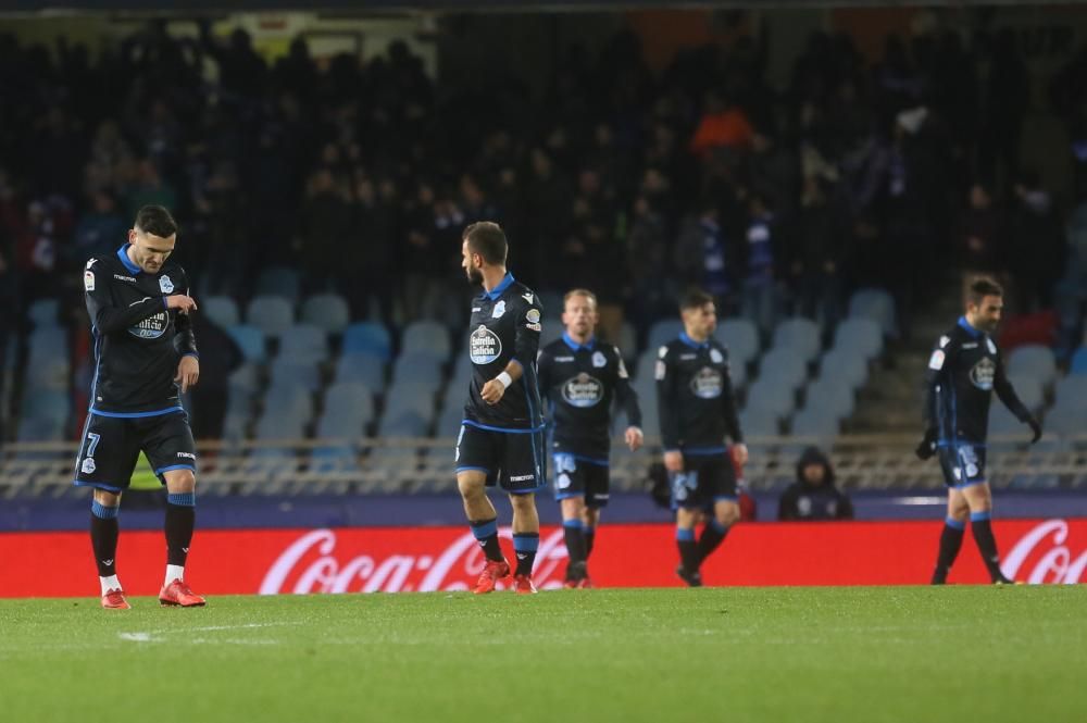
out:
{"label": "red-blond player with number 14 on his shorts", "polygon": [[569,291],[562,311],[566,331],[539,358],[540,394],[550,404],[554,497],[570,556],[565,587],[592,586],[588,560],[600,508],[608,504],[612,400],[626,411],[627,447],[635,451],[642,441],[638,396],[619,349],[597,340],[598,321],[592,291]]}

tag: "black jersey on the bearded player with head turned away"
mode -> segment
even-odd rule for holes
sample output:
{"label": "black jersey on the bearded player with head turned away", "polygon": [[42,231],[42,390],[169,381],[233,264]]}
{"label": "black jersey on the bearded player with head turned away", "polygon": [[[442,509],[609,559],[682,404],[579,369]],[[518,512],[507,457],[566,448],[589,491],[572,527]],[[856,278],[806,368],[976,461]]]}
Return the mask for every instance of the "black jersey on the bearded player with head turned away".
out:
{"label": "black jersey on the bearded player with head turned away", "polygon": [[[464,404],[464,423],[484,429],[539,429],[544,426],[536,374],[536,352],[540,344],[539,298],[524,284],[507,274],[491,291],[472,300],[468,357],[472,383]],[[501,374],[511,361],[524,373],[502,395],[488,404],[479,392]]]}

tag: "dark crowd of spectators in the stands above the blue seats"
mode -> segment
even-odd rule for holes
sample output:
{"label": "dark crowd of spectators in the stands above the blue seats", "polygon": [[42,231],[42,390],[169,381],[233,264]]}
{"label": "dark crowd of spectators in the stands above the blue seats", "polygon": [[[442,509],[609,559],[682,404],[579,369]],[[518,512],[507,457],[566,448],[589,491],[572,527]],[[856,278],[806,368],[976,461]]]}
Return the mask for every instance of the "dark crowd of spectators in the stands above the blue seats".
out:
{"label": "dark crowd of spectators in the stands above the blue seats", "polygon": [[288,265],[390,323],[459,321],[459,234],[479,219],[505,226],[520,278],[589,286],[605,324],[641,331],[689,284],[763,328],[833,323],[849,289],[882,286],[908,331],[948,269],[1015,269],[1032,309],[1054,303],[1070,240],[1087,257],[1087,183],[1076,205],[1020,155],[1033,83],[1083,130],[1087,52],[1035,78],[1010,32],[892,36],[875,64],[819,33],[784,88],[766,80],[772,38],[654,74],[621,33],[534,88],[455,87],[400,42],[318,64],[300,39],[270,63],[245,32],[201,27],[151,23],[97,58],[0,36],[8,309],[62,289],[77,309],[79,266],[145,203],[175,211],[200,294],[243,299]]}

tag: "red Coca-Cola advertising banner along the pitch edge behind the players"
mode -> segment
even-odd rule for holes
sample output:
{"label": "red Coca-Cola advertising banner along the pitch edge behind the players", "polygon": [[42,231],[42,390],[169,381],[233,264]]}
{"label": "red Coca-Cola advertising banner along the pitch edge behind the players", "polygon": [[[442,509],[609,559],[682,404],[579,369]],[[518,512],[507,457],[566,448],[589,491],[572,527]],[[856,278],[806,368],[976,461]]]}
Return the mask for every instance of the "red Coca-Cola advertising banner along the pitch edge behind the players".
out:
{"label": "red Coca-Cola advertising banner along the pitch edge behind the players", "polygon": [[[740,524],[702,569],[707,585],[910,585],[928,582],[937,522]],[[995,523],[1009,576],[1028,583],[1087,582],[1087,519]],[[503,528],[507,554],[510,529]],[[970,534],[952,583],[988,577]],[[589,562],[600,587],[679,585],[674,529],[602,525]],[[121,535],[117,569],[130,595],[162,584],[161,533]],[[545,527],[534,578],[559,587],[562,529]],[[483,568],[466,527],[198,531],[186,577],[202,595],[393,593],[467,589]],[[84,533],[0,534],[0,597],[86,597],[98,590]]]}

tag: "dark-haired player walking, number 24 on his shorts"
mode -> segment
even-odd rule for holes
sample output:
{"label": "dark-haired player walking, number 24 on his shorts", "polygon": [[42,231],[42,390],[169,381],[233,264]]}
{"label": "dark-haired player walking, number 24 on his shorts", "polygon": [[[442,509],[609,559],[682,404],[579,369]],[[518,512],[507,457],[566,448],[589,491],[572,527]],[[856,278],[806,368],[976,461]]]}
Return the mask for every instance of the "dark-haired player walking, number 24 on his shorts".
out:
{"label": "dark-haired player walking, number 24 on his shorts", "polygon": [[[684,331],[661,347],[657,360],[661,442],[676,510],[676,574],[701,587],[702,562],[721,546],[740,508],[733,460],[742,468],[748,450],[740,433],[728,374],[728,352],[713,338],[717,313],[713,297],[689,291],[679,304]],[[725,435],[733,450],[725,446]],[[700,513],[708,522],[695,539]]]}

